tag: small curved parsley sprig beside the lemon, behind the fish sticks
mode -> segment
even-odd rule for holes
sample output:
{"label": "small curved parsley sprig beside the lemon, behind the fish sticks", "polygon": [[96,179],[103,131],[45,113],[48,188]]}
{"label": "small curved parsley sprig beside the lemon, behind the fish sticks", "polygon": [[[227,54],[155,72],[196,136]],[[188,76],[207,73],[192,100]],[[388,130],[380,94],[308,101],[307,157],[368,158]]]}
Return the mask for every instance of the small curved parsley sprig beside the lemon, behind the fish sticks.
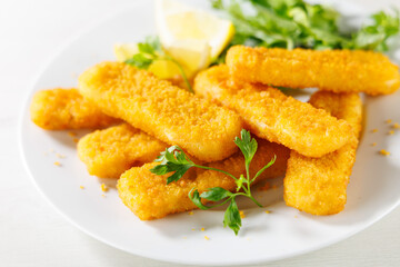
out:
{"label": "small curved parsley sprig beside the lemon, behind the fish sticks", "polygon": [[190,92],[194,92],[188,77],[184,73],[182,66],[171,56],[167,55],[162,50],[160,39],[158,37],[147,37],[144,42],[138,43],[139,52],[133,55],[132,58],[126,60],[124,62],[131,66],[134,66],[139,69],[148,69],[154,60],[166,60],[173,62],[179,71],[181,72],[182,79],[187,85]]}

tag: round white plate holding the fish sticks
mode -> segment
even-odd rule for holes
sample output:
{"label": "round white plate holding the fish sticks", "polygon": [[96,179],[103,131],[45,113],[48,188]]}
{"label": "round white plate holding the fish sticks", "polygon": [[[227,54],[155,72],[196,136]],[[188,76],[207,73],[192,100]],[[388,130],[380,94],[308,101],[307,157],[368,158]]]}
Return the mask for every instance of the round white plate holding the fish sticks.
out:
{"label": "round white plate holding the fish sticks", "polygon": [[[357,11],[354,7],[343,7],[347,13]],[[139,41],[149,33],[153,33],[152,4],[141,1],[66,47],[41,73],[31,93],[44,88],[77,86],[78,73],[99,61],[113,60],[116,42]],[[102,197],[99,180],[89,176],[78,159],[72,138],[64,131],[44,131],[36,127],[30,121],[29,101],[21,117],[21,150],[39,190],[81,230],[131,254],[201,265],[271,261],[342,240],[379,220],[399,204],[400,131],[388,136],[389,126],[384,120],[400,122],[400,92],[366,98],[364,132],[344,211],[328,217],[299,212],[286,207],[280,186],[258,195],[263,202],[270,204],[271,214],[250,206],[246,209],[247,218],[238,237],[230,229],[222,228],[221,210],[194,211],[193,216],[184,212],[161,220],[141,221],[123,206],[114,188],[104,194],[106,198]],[[373,128],[379,132],[371,134]],[[372,142],[378,146],[372,147]],[[391,151],[391,156],[380,156],[379,149]],[[66,158],[59,159],[57,152]],[[62,166],[54,166],[54,161]],[[202,227],[206,231],[200,231]],[[204,239],[206,235],[210,240]]]}

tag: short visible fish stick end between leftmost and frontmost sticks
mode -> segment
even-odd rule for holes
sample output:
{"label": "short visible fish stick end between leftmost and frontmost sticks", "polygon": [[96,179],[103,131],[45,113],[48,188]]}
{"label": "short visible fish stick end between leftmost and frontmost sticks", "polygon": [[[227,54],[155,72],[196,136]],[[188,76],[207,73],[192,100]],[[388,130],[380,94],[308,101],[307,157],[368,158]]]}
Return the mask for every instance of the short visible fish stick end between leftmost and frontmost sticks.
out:
{"label": "short visible fish stick end between leftmost and frontmost sticks", "polygon": [[133,166],[153,161],[166,148],[164,142],[122,123],[81,138],[78,142],[78,156],[90,175],[119,178]]}

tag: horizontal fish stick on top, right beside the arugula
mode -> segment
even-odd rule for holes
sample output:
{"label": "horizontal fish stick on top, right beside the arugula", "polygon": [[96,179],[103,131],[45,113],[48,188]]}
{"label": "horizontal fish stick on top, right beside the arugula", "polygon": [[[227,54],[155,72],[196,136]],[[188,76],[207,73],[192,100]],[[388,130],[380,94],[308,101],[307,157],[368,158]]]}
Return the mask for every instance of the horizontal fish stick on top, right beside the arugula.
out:
{"label": "horizontal fish stick on top, right beside the arugula", "polygon": [[228,51],[227,65],[234,79],[281,87],[372,96],[392,93],[400,87],[398,66],[373,51],[236,46]]}

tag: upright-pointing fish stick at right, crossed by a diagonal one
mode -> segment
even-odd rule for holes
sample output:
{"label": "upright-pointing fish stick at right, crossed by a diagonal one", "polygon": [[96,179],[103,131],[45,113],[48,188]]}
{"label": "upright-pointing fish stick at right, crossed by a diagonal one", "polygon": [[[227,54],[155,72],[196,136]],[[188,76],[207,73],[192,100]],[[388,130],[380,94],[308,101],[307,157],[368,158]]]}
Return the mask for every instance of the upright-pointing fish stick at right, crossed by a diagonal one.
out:
{"label": "upright-pointing fish stick at right, crossed by a diagonal one", "polygon": [[312,215],[338,214],[344,208],[346,189],[356,161],[362,103],[357,93],[323,91],[312,95],[310,103],[349,121],[353,138],[339,150],[318,159],[291,151],[284,177],[284,200],[288,206]]}

